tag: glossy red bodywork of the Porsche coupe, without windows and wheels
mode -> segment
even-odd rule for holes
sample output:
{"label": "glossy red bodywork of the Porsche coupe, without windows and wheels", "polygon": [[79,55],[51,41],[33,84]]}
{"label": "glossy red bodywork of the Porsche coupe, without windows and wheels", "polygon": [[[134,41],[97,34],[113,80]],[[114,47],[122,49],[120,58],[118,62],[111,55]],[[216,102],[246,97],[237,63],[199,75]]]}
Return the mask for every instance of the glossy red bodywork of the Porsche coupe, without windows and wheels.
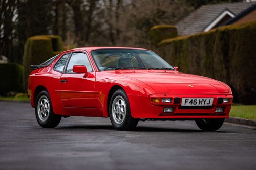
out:
{"label": "glossy red bodywork of the Porsche coupe, without windows and wheels", "polygon": [[[77,48],[62,52],[48,66],[37,67],[28,78],[28,95],[36,107],[38,94],[49,93],[54,114],[62,116],[109,117],[111,96],[123,89],[130,103],[131,116],[140,120],[224,119],[229,116],[232,92],[225,83],[177,70],[120,69],[100,71],[91,52],[97,49],[133,49],[118,47]],[[67,53],[84,53],[92,71],[65,74],[54,70],[60,57]],[[79,67],[73,69],[80,69]],[[81,67],[81,69],[83,69]],[[75,71],[75,72],[79,72]],[[163,98],[171,100],[162,102]],[[187,100],[183,100],[183,99]],[[207,99],[211,101],[206,101]],[[225,102],[223,102],[223,99]],[[159,102],[160,100],[160,102]],[[190,102],[191,106],[181,106]],[[210,106],[194,106],[212,102]],[[167,108],[167,112],[163,112]],[[168,112],[172,108],[173,112]],[[217,108],[222,110],[216,111]]]}

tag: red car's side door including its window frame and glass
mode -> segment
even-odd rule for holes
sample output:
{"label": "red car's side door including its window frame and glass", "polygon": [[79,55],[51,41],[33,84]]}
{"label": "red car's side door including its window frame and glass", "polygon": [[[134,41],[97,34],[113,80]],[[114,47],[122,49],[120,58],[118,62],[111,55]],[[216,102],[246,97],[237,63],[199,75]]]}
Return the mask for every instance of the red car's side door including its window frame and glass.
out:
{"label": "red car's side door including its window frame and glass", "polygon": [[[84,74],[74,73],[74,65],[86,66],[88,76],[84,78]],[[94,86],[95,72],[93,72],[87,54],[83,52],[71,53],[59,82],[59,93],[63,106],[95,108]]]}

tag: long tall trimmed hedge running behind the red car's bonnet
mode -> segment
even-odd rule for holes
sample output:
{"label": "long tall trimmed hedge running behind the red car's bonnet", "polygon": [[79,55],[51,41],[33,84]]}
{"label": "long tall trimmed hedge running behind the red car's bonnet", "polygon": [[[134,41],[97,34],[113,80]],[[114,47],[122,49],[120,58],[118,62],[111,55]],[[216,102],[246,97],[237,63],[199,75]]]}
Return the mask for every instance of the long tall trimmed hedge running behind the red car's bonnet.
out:
{"label": "long tall trimmed hedge running behind the red car's bonnet", "polygon": [[256,104],[256,22],[166,39],[159,47],[180,71],[223,81],[235,102]]}

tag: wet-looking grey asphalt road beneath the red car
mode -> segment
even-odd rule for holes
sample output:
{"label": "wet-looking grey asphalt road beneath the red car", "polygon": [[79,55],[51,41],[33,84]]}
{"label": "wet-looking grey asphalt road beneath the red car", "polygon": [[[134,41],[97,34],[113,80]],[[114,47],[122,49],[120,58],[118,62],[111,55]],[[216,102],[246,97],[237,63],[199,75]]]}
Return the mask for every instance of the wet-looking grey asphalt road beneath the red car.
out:
{"label": "wet-looking grey asphalt road beneath the red car", "polygon": [[41,128],[29,103],[0,102],[0,169],[255,169],[256,130],[195,122],[139,122],[117,131],[109,118],[62,118]]}

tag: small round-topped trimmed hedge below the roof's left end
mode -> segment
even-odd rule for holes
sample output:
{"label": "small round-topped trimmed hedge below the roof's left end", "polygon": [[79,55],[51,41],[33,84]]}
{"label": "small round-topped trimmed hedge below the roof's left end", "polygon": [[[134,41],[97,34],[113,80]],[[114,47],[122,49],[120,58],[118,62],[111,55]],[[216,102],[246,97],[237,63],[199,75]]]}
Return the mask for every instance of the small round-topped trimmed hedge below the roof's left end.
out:
{"label": "small round-topped trimmed hedge below the roof's left end", "polygon": [[177,37],[178,32],[175,26],[157,25],[150,29],[148,35],[150,36],[151,43],[157,45],[164,39]]}

